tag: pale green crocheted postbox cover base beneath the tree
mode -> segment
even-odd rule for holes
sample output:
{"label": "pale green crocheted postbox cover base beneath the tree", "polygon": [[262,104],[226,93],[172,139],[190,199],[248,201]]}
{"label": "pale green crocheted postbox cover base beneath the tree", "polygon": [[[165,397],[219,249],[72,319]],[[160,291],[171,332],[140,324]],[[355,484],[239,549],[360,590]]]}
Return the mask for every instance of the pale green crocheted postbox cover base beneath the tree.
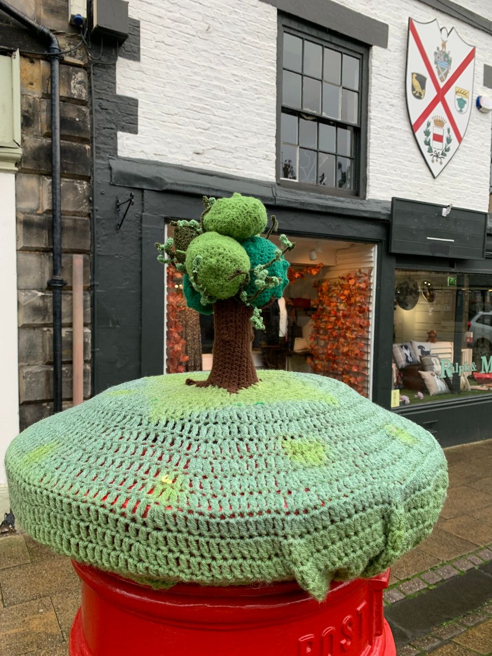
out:
{"label": "pale green crocheted postbox cover base beneath the tree", "polygon": [[430,433],[336,380],[258,375],[237,394],[134,380],[30,426],[6,458],[20,524],[156,586],[297,579],[320,600],[430,533],[447,489]]}

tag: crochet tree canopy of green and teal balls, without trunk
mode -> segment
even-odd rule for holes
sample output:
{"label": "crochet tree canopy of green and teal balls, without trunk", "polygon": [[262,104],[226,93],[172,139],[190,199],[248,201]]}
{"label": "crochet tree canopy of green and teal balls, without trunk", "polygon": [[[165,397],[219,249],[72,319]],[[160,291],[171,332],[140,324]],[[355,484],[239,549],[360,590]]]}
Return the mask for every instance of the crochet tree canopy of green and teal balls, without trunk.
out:
{"label": "crochet tree canopy of green and teal balls, without trunk", "polygon": [[158,260],[173,264],[184,275],[188,306],[210,314],[218,300],[236,298],[253,308],[251,321],[262,328],[260,308],[279,298],[288,283],[284,258],[294,244],[280,236],[283,249],[270,241],[278,224],[261,237],[267,224],[263,203],[253,197],[203,197],[201,220],[175,221],[174,239],[157,243]]}

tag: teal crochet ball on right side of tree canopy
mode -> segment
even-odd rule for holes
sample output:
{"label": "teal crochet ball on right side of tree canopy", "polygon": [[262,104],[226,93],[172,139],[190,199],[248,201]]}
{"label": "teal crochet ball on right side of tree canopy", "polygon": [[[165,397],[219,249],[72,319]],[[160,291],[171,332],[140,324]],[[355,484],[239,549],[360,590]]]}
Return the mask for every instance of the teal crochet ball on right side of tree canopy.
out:
{"label": "teal crochet ball on right side of tree canopy", "polygon": [[[266,264],[275,258],[276,252],[279,250],[272,241],[264,239],[264,237],[249,237],[245,241],[241,241],[241,246],[245,249],[246,253],[249,256],[249,261],[251,262],[251,268],[254,270],[255,266],[258,264]],[[287,269],[289,268],[289,262],[283,257],[279,260],[275,260],[266,268],[268,276],[275,276],[279,278],[280,283],[274,287],[264,289],[260,295],[254,298],[255,292],[258,289],[258,278],[253,275],[245,289],[247,295],[252,297],[254,300],[251,301],[251,305],[256,308],[262,308],[266,305],[272,298],[280,298],[283,290],[289,284],[289,279],[287,278]]]}

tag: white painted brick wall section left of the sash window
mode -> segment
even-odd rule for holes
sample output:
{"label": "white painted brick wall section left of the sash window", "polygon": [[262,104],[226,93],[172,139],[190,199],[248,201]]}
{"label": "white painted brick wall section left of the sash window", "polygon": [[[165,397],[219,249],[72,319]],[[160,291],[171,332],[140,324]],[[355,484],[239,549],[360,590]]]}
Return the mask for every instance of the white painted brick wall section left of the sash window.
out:
{"label": "white painted brick wall section left of the sash window", "polygon": [[140,62],[117,91],[138,98],[125,157],[275,177],[277,11],[258,0],[131,0]]}

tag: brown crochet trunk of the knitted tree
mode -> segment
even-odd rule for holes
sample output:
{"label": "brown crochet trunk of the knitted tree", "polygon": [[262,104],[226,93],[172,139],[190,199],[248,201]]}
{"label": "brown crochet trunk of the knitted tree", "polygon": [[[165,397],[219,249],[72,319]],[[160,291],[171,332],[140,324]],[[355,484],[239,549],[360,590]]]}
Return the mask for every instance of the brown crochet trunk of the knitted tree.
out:
{"label": "brown crochet trunk of the knitted tree", "polygon": [[215,339],[212,370],[207,380],[186,380],[197,387],[222,387],[236,393],[258,382],[253,363],[251,342],[253,308],[236,298],[217,300],[214,303]]}

